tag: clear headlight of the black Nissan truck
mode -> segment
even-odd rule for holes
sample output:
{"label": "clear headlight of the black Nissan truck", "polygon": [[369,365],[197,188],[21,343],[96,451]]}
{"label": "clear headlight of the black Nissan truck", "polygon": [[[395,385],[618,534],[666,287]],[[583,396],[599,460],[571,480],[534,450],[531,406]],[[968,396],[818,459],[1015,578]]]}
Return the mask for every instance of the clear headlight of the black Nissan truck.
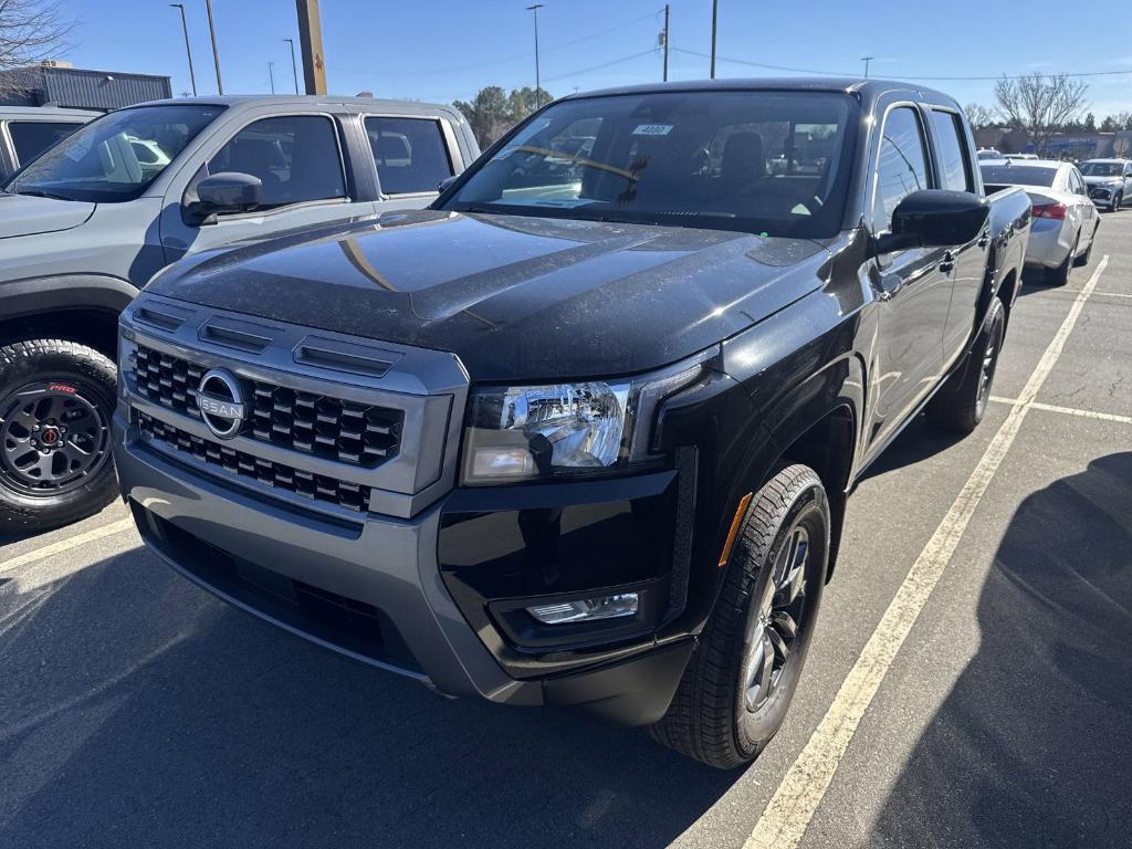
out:
{"label": "clear headlight of the black Nissan truck", "polygon": [[658,404],[695,381],[705,359],[633,379],[477,388],[462,482],[588,475],[654,460],[649,437]]}

